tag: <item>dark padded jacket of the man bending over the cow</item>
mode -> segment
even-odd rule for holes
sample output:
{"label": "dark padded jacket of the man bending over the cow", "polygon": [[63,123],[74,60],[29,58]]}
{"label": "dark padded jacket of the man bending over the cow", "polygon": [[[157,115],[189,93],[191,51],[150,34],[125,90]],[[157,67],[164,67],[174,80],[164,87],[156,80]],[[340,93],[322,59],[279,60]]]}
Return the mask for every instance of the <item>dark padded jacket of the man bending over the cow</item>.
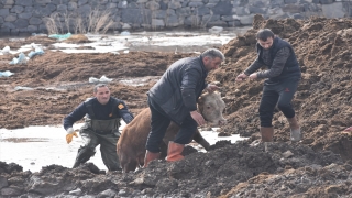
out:
{"label": "dark padded jacket of the man bending over the cow", "polygon": [[147,95],[182,124],[190,111],[197,110],[197,99],[207,87],[207,76],[201,56],[183,58],[168,67]]}

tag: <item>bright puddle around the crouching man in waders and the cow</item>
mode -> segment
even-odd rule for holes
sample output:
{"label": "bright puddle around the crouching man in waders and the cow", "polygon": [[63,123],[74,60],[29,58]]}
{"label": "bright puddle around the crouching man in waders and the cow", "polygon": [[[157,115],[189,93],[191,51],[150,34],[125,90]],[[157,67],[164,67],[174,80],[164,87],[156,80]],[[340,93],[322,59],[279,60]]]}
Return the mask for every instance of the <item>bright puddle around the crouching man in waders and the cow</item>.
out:
{"label": "bright puddle around the crouching man in waders and the cow", "polygon": [[[120,130],[125,125],[122,125]],[[74,129],[79,129],[82,123],[74,124]],[[219,140],[231,140],[232,143],[243,140],[239,135],[218,136],[217,132],[202,131],[201,134],[210,143],[215,144]],[[0,161],[6,163],[16,163],[23,170],[38,172],[43,166],[52,164],[72,167],[74,165],[77,151],[80,146],[81,138],[74,138],[70,144],[66,143],[66,131],[63,127],[29,127],[24,129],[7,130],[0,129]],[[205,152],[204,148],[191,143],[196,148]],[[101,160],[100,147],[88,162],[94,163],[100,169],[107,169]]]}

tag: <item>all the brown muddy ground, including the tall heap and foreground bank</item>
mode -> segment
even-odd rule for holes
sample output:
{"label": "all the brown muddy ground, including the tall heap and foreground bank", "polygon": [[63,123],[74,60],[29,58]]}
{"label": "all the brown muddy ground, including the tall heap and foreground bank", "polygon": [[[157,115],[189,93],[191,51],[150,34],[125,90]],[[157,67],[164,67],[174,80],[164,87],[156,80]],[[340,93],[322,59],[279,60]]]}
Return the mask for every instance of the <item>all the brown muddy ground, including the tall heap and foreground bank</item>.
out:
{"label": "all the brown muddy ground, including the tall heap and foreground bank", "polygon": [[[296,50],[302,79],[293,101],[304,139],[289,142],[283,113],[274,116],[274,142],[255,144],[262,80],[234,82],[255,58],[255,33],[268,28]],[[11,42],[56,41],[29,37]],[[0,43],[0,48],[9,42]],[[352,197],[352,20],[311,18],[264,20],[256,15],[253,29],[220,50],[227,61],[209,75],[220,81],[227,103],[228,124],[222,132],[250,139],[231,144],[218,142],[208,153],[189,150],[184,161],[152,162],[135,173],[105,173],[87,163],[72,169],[59,165],[41,172],[23,172],[0,162],[2,197]],[[65,54],[46,51],[26,65],[9,65],[14,55],[0,56],[0,70],[15,75],[0,78],[0,128],[59,124],[76,106],[91,96],[92,75],[108,75],[112,96],[127,101],[133,113],[146,107],[145,92],[167,66],[196,54],[131,52],[129,54]],[[127,86],[118,79],[151,76],[147,85]],[[16,86],[34,88],[18,90]],[[44,152],[44,151],[43,151]]]}

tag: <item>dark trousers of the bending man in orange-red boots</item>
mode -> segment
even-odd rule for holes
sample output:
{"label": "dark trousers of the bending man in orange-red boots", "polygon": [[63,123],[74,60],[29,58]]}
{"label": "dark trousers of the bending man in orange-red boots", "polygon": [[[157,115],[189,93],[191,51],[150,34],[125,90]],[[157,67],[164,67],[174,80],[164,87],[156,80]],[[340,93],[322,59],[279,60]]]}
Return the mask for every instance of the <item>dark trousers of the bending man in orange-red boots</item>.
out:
{"label": "dark trousers of the bending man in orange-red boots", "polygon": [[[147,102],[152,113],[152,130],[147,136],[145,148],[150,152],[158,153],[161,152],[160,145],[173,119],[169,118],[151,98],[147,99]],[[174,142],[178,144],[188,144],[191,141],[194,133],[197,131],[197,122],[189,114],[179,127],[180,129],[177,132]]]}

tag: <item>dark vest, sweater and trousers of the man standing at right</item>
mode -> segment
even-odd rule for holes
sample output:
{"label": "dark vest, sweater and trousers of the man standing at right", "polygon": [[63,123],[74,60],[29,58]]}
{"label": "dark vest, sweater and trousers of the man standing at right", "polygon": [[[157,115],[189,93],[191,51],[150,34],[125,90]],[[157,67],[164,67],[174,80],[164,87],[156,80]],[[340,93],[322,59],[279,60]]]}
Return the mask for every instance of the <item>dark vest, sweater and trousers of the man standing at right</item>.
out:
{"label": "dark vest, sweater and trousers of the man standing at right", "polygon": [[301,73],[294,48],[286,41],[275,36],[271,48],[264,50],[257,44],[256,50],[257,57],[244,74],[249,76],[262,66],[267,66],[267,70],[257,73],[257,78],[267,78],[258,111],[261,127],[273,127],[276,105],[286,118],[295,117],[292,99],[297,91]]}

